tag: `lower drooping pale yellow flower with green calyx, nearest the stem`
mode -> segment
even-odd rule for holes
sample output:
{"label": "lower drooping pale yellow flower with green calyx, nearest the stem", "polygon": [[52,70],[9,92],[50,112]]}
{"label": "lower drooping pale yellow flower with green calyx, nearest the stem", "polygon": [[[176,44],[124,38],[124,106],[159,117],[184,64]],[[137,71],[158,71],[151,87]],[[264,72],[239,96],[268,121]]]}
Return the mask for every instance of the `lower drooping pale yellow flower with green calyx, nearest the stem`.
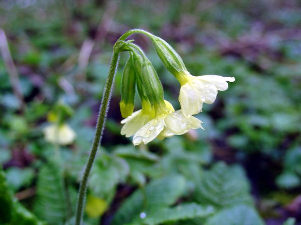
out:
{"label": "lower drooping pale yellow flower with green calyx, nearest the stem", "polygon": [[138,47],[133,44],[129,47],[132,47],[132,68],[142,109],[121,121],[124,124],[121,134],[126,137],[134,135],[132,142],[139,145],[142,142],[147,144],[156,137],[163,139],[184,134],[189,129],[202,128],[200,120],[193,116],[186,117],[182,110],[175,112],[171,103],[164,100],[163,87],[152,63]]}

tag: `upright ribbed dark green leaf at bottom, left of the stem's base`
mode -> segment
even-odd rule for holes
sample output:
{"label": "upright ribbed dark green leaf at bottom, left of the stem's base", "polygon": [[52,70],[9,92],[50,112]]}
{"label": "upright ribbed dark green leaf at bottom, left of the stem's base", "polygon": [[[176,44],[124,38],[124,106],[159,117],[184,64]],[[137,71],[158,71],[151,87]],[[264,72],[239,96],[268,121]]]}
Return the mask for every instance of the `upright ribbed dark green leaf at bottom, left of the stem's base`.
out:
{"label": "upright ribbed dark green leaf at bottom, left of the stem's base", "polygon": [[38,176],[35,212],[49,224],[63,224],[67,219],[62,171],[55,162],[44,165]]}

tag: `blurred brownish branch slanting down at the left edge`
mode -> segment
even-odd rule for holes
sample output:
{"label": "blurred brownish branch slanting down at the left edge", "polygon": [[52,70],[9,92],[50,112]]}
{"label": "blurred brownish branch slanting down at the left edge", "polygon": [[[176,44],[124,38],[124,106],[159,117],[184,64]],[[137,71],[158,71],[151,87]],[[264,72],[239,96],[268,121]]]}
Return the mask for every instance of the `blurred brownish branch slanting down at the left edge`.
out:
{"label": "blurred brownish branch slanting down at the left edge", "polygon": [[21,90],[19,75],[16,69],[16,66],[14,64],[7,37],[5,35],[4,30],[0,28],[0,52],[3,58],[3,61],[5,63],[7,72],[10,76],[10,81],[12,84],[14,95],[17,97],[17,99],[20,102],[20,109],[21,112],[24,112],[26,105],[24,101],[24,96]]}

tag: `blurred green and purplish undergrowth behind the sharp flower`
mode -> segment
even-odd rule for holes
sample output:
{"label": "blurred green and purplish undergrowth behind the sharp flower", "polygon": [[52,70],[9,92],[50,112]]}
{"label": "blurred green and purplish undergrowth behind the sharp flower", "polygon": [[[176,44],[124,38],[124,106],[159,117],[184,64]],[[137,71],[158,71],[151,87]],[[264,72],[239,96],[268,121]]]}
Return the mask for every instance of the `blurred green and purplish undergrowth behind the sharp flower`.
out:
{"label": "blurred green and purplish undergrowth behind the sharp flower", "polygon": [[[205,130],[134,148],[120,135],[122,55],[86,224],[301,224],[299,1],[5,0],[0,27],[21,84],[10,79],[2,35],[0,223],[72,224],[112,45],[141,28],[169,42],[192,74],[236,81],[198,115]],[[179,108],[177,80],[149,40],[133,39]],[[68,146],[43,135],[59,102],[77,134]]]}

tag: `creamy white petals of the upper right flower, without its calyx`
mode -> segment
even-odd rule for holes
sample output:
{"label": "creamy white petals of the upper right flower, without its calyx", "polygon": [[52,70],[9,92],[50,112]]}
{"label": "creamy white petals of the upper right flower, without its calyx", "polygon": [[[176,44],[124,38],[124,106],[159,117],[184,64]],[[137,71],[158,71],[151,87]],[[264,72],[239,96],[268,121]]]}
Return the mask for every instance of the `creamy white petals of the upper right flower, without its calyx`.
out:
{"label": "creamy white petals of the upper right flower, without its calyx", "polygon": [[186,117],[201,112],[203,103],[212,104],[216,99],[217,91],[227,90],[227,81],[235,81],[234,77],[217,75],[195,77],[188,72],[181,75],[179,102]]}

